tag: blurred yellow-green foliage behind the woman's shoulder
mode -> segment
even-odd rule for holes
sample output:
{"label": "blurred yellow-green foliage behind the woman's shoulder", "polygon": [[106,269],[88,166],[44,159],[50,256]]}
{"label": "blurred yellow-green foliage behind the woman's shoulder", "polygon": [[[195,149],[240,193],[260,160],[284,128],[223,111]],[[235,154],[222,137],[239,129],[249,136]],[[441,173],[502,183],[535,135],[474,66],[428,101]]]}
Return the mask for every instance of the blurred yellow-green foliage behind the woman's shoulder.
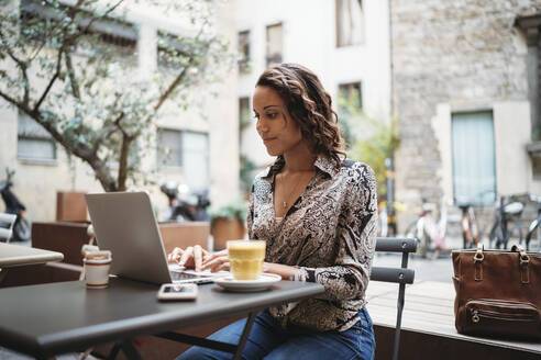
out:
{"label": "blurred yellow-green foliage behind the woman's shoulder", "polygon": [[400,143],[398,120],[374,120],[363,112],[358,94],[339,94],[339,112],[349,156],[372,167],[377,181],[378,195],[387,194],[385,159],[394,158]]}

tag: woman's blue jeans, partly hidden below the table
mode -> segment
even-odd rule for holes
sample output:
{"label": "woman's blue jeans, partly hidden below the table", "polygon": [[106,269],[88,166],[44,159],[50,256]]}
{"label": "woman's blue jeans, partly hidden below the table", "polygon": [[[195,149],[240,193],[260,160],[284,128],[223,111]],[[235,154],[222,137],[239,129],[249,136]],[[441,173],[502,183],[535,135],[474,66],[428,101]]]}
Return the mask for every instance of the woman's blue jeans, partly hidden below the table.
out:
{"label": "woman's blue jeans, partly hidden below the table", "polygon": [[[289,326],[286,330],[264,312],[255,318],[243,359],[374,359],[376,341],[372,318],[366,308],[358,312],[361,320],[346,331],[313,331]],[[239,344],[246,319],[225,326],[209,339]],[[233,355],[194,346],[177,360],[232,359]]]}

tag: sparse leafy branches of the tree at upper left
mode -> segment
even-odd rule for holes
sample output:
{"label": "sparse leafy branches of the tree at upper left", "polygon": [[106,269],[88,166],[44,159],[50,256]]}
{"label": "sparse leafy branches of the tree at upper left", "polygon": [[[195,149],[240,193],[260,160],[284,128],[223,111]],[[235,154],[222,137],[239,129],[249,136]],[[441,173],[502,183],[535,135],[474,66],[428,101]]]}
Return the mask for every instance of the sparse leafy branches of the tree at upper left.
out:
{"label": "sparse leafy branches of the tree at upper left", "polygon": [[[125,20],[124,0],[0,4],[0,97],[86,161],[106,191],[141,178],[164,103],[186,109],[190,90],[216,81],[228,63],[228,45],[213,33],[212,2],[145,4],[189,24],[185,34],[159,34],[163,66],[150,76],[134,64],[135,49],[147,49],[136,48],[139,29]],[[122,46],[114,44],[118,33],[128,34]],[[131,55],[123,53],[131,47]]]}

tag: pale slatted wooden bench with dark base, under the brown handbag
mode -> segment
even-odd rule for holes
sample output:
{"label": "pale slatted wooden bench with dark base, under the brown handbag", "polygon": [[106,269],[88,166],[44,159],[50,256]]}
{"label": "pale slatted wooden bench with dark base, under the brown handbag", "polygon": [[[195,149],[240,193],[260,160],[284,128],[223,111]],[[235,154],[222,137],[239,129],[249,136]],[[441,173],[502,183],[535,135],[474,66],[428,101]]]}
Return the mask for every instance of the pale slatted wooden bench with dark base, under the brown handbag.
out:
{"label": "pale slatted wooden bench with dark base, under the brown handbag", "polygon": [[[379,246],[377,250],[380,251]],[[451,262],[451,258],[449,261]],[[377,261],[375,263],[377,265]],[[449,283],[416,281],[408,285],[400,324],[399,359],[541,359],[540,342],[509,341],[459,334],[454,327],[454,297],[455,291],[451,279]],[[390,344],[397,331],[398,299],[395,283],[371,281],[366,300],[374,322],[376,359],[387,360],[393,356]]]}

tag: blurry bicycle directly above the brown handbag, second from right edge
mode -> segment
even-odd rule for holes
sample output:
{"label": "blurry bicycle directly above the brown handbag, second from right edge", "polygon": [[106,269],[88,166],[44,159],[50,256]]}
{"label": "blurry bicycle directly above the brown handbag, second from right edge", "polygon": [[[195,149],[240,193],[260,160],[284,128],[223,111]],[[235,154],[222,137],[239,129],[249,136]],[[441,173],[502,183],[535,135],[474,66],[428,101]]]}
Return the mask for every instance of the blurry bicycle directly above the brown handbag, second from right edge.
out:
{"label": "blurry bicycle directly above the brown handbag, second from right edge", "polygon": [[[509,202],[506,203],[506,198]],[[516,201],[514,195],[501,195],[496,203],[496,216],[493,227],[488,235],[490,248],[507,249],[509,240],[514,243],[522,243],[522,229],[518,222],[518,217],[522,214],[525,204]],[[510,226],[509,226],[510,225]]]}

